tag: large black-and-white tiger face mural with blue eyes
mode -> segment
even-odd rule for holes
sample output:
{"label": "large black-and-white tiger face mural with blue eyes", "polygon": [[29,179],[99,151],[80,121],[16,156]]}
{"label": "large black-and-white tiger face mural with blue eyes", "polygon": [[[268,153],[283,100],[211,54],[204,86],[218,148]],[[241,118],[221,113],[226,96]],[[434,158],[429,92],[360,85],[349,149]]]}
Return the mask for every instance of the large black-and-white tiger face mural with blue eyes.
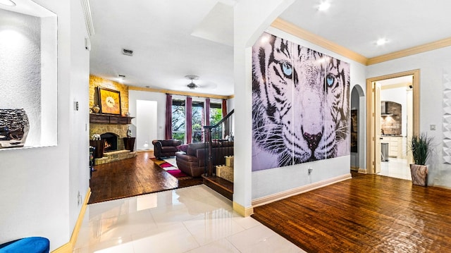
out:
{"label": "large black-and-white tiger face mural with blue eyes", "polygon": [[349,98],[349,63],[267,33],[254,45],[253,149],[276,166],[350,154]]}

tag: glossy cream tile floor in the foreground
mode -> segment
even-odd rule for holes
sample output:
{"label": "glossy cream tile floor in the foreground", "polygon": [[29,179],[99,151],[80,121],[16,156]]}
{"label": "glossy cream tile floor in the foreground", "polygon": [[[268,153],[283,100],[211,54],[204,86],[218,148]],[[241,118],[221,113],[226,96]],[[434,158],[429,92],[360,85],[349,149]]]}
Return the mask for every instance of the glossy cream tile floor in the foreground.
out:
{"label": "glossy cream tile floor in the foreground", "polygon": [[89,204],[73,252],[304,252],[204,185]]}

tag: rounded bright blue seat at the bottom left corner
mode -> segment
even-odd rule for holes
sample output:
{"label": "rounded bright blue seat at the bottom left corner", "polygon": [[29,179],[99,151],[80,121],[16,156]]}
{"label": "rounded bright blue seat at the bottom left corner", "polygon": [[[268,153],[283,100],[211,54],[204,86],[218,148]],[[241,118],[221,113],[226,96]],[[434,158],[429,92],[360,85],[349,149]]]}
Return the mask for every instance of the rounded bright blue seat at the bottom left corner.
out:
{"label": "rounded bright blue seat at the bottom left corner", "polygon": [[25,237],[0,245],[0,253],[49,253],[50,241],[44,237]]}

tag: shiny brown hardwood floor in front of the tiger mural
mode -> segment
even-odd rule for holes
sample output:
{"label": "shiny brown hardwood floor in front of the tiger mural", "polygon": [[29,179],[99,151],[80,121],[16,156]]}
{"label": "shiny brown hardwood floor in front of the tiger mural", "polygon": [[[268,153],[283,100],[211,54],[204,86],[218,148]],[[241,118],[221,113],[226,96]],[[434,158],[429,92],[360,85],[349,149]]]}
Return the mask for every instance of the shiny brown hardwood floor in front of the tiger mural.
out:
{"label": "shiny brown hardwood floor in front of the tiger mural", "polygon": [[451,190],[352,177],[252,216],[307,252],[451,252]]}

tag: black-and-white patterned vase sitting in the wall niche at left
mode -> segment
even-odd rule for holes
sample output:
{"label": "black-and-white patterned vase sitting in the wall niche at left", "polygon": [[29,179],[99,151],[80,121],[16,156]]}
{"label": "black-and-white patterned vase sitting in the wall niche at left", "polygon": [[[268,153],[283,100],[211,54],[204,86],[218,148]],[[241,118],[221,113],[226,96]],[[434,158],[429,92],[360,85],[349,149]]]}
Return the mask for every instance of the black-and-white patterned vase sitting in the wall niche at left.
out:
{"label": "black-and-white patterned vase sitting in the wall niche at left", "polygon": [[24,109],[0,109],[0,149],[23,147],[30,123]]}

